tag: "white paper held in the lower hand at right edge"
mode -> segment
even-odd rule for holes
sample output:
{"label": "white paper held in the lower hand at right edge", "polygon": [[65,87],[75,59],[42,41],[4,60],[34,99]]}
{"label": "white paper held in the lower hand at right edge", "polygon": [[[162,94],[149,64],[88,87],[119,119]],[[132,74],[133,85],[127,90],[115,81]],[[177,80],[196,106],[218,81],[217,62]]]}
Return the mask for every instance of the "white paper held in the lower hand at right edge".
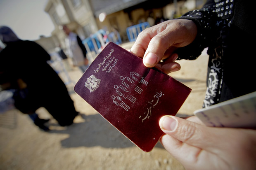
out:
{"label": "white paper held in the lower hand at right edge", "polygon": [[256,127],[256,92],[196,110],[194,115],[206,126]]}

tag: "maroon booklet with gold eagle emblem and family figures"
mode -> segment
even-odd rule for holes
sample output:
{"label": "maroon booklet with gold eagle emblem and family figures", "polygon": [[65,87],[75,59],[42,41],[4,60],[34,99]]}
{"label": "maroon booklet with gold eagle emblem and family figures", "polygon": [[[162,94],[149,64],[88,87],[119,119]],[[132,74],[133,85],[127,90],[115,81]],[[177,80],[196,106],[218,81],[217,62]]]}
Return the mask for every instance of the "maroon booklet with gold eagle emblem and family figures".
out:
{"label": "maroon booklet with gold eagle emblem and family figures", "polygon": [[175,115],[191,89],[142,58],[110,42],[74,87],[75,92],[143,151],[163,131],[159,119]]}

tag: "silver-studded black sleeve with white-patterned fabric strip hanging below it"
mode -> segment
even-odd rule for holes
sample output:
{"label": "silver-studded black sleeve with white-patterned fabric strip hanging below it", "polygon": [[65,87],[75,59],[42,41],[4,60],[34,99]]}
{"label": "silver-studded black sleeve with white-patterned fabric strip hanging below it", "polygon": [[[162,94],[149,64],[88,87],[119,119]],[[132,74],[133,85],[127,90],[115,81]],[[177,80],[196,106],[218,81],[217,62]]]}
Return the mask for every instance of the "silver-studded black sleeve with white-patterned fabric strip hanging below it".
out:
{"label": "silver-studded black sleeve with white-patterned fabric strip hanging below it", "polygon": [[[223,54],[226,37],[232,22],[234,0],[208,0],[200,10],[184,14],[178,19],[189,19],[197,25],[197,37],[190,45],[179,49],[178,59],[194,60],[208,47],[209,70],[203,107],[220,101],[223,84]],[[188,52],[187,52],[188,51]]]}

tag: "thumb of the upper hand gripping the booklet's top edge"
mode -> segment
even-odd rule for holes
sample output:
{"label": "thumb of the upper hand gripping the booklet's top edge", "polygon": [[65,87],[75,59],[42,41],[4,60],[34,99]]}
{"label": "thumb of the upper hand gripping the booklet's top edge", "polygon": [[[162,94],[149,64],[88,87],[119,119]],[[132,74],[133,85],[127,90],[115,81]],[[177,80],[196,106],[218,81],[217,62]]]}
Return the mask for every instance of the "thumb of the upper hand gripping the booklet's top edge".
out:
{"label": "thumb of the upper hand gripping the booklet's top edge", "polygon": [[165,21],[156,28],[157,34],[150,40],[143,56],[146,67],[154,67],[170,47],[185,47],[197,35],[197,26],[189,20]]}

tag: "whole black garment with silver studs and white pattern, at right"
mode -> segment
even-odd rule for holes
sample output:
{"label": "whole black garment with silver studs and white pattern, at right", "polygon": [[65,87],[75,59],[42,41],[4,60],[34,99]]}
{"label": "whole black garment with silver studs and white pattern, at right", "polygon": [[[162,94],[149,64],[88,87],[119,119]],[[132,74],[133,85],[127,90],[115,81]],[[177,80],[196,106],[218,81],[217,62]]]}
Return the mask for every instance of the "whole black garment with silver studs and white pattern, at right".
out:
{"label": "whole black garment with silver studs and white pattern, at right", "polygon": [[196,39],[177,51],[178,59],[194,60],[208,47],[203,107],[256,91],[254,7],[255,1],[208,0],[202,9],[178,18],[192,20],[198,29]]}

